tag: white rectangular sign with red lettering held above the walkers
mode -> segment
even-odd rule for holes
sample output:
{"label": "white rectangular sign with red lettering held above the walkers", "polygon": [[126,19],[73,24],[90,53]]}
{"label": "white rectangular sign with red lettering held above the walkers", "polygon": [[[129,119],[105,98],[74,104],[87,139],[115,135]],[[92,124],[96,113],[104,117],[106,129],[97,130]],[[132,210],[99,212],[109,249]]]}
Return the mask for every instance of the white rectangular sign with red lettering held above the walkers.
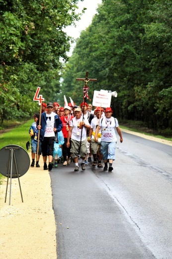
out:
{"label": "white rectangular sign with red lettering held above the walkers", "polygon": [[110,107],[111,93],[106,91],[94,91],[92,106],[107,108]]}

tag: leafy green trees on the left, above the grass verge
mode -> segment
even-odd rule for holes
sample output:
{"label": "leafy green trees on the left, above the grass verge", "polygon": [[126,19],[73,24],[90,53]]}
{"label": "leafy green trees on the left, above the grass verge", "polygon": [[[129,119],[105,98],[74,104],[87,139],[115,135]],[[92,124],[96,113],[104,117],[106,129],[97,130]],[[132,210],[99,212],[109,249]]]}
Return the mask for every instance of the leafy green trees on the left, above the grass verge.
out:
{"label": "leafy green trees on the left, above the grass verge", "polygon": [[0,120],[27,118],[36,109],[37,87],[56,101],[62,60],[79,0],[0,0]]}

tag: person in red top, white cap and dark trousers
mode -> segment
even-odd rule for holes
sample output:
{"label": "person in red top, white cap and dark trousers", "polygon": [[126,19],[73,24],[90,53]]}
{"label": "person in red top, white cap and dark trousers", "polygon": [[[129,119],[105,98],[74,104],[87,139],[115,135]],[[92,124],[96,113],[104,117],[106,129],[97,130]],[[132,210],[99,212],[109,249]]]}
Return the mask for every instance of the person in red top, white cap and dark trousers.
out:
{"label": "person in red top, white cap and dark trousers", "polygon": [[70,128],[70,123],[73,118],[74,118],[74,116],[71,115],[71,107],[65,106],[64,115],[60,117],[62,124],[63,124],[62,132],[63,132],[63,136],[64,136],[64,141],[65,141],[63,144],[63,149],[62,149],[63,158],[64,158],[63,165],[70,164],[70,162],[71,162],[71,159],[70,159],[70,157],[71,157],[71,139],[70,139],[70,146],[67,147],[66,144],[67,144],[67,139],[68,139],[68,131]]}

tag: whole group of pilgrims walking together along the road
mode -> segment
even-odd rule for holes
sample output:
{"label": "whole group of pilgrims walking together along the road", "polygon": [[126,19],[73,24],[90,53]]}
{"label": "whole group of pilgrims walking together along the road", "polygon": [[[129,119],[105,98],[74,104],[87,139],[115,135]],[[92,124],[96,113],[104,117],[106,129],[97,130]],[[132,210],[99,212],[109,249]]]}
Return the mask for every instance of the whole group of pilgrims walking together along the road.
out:
{"label": "whole group of pilgrims walking together along the road", "polygon": [[86,102],[80,106],[68,103],[64,107],[57,102],[42,103],[41,115],[34,115],[29,129],[31,167],[40,167],[42,154],[44,170],[51,171],[63,161],[63,166],[74,162],[74,171],[79,171],[80,165],[84,171],[86,165],[91,163],[92,167],[111,172],[117,142],[115,129],[120,142],[123,141],[118,121],[112,113],[110,107],[92,109],[92,105]]}

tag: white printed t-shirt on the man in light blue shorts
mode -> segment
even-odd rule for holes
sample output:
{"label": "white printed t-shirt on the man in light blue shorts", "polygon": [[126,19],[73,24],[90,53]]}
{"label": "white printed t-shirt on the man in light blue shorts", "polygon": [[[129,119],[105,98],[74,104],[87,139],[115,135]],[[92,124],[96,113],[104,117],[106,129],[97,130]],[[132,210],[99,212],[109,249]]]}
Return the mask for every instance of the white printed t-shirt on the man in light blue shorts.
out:
{"label": "white printed t-shirt on the man in light blue shorts", "polygon": [[99,126],[101,127],[101,141],[116,142],[115,128],[119,127],[117,119],[113,117],[107,119],[104,117],[100,120]]}

